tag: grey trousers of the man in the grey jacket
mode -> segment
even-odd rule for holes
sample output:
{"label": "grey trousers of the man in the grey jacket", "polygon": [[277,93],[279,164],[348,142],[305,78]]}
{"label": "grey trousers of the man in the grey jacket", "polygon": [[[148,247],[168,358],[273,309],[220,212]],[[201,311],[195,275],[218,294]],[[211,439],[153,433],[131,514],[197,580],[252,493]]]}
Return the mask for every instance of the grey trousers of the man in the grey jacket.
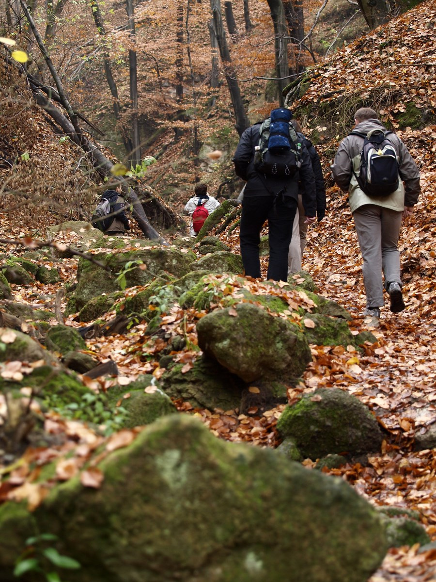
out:
{"label": "grey trousers of the man in the grey jacket", "polygon": [[363,285],[366,307],[383,307],[384,288],[400,278],[400,256],[398,250],[402,212],[365,204],[353,212],[360,253],[363,258]]}

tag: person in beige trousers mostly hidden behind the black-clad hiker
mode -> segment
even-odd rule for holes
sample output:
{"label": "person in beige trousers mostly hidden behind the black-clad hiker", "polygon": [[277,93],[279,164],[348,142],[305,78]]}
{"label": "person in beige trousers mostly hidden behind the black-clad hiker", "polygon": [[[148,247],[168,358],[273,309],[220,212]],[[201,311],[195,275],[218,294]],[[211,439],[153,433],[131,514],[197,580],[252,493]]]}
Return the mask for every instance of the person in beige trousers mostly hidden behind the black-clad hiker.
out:
{"label": "person in beige trousers mostly hidden behind the black-clad hiker", "polygon": [[[326,185],[324,183],[323,168],[321,167],[321,161],[319,155],[313,147],[313,144],[308,140],[302,133],[301,125],[296,119],[291,120],[298,137],[300,137],[305,144],[309,156],[310,163],[312,164],[313,174],[315,175],[315,188],[316,188],[316,216],[318,222],[326,215]],[[288,274],[301,271],[301,260],[303,251],[306,246],[306,235],[308,232],[308,222],[305,219],[304,207],[303,207],[303,196],[305,192],[305,184],[302,180],[298,183],[299,194],[298,194],[298,209],[294,218],[294,228],[292,229],[292,239],[289,246],[288,253]]]}

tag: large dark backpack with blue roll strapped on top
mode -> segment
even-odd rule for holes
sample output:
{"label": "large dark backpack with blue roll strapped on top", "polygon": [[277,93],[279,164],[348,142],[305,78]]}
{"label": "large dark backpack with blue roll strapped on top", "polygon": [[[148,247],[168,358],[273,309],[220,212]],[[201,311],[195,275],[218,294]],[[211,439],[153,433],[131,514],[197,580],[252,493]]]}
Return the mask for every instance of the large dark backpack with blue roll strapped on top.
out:
{"label": "large dark backpack with blue roll strapped on top", "polygon": [[289,109],[273,109],[260,126],[254,166],[266,177],[292,178],[301,167],[301,139],[291,125],[291,119]]}

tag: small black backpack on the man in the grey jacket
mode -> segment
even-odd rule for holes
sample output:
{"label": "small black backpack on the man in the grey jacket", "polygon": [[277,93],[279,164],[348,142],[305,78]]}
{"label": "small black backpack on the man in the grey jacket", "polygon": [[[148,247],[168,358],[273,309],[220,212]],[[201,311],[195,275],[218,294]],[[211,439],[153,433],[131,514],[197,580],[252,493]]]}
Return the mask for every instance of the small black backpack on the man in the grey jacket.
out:
{"label": "small black backpack on the man in the grey jacket", "polygon": [[360,152],[359,173],[356,180],[367,196],[389,196],[398,188],[398,158],[393,145],[387,139],[389,132],[373,129],[367,134],[351,132],[349,135],[364,137]]}

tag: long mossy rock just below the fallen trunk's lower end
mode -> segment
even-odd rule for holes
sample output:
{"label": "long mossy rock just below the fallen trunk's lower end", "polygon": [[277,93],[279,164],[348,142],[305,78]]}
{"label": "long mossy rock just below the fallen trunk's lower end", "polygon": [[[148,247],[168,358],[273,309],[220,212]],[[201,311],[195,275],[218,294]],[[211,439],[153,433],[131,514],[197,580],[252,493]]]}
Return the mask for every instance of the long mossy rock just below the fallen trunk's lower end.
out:
{"label": "long mossy rock just below the fallen trunk's lower end", "polygon": [[187,274],[195,255],[183,253],[173,247],[135,249],[127,252],[98,253],[94,259],[105,265],[104,271],[83,257],[78,261],[78,284],[74,294],[74,307],[80,310],[92,299],[103,293],[110,294],[123,288],[146,285],[160,273],[175,278]]}

